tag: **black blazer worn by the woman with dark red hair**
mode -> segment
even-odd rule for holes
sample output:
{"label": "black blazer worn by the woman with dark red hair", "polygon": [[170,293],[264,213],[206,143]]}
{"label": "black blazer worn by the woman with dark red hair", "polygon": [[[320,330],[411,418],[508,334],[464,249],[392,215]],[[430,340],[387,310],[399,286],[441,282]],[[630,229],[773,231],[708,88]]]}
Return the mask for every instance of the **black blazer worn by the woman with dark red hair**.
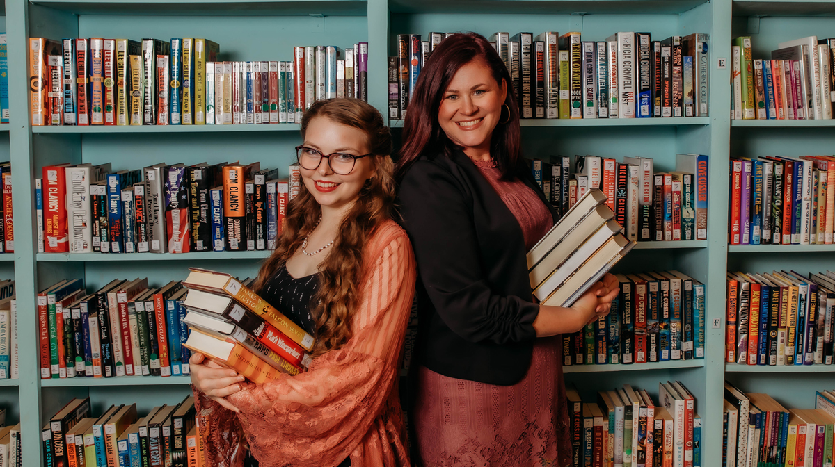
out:
{"label": "black blazer worn by the woman with dark red hair", "polygon": [[[556,212],[524,163],[517,177]],[[488,384],[518,383],[536,332],[522,228],[462,151],[418,158],[400,183],[417,259],[420,364]]]}

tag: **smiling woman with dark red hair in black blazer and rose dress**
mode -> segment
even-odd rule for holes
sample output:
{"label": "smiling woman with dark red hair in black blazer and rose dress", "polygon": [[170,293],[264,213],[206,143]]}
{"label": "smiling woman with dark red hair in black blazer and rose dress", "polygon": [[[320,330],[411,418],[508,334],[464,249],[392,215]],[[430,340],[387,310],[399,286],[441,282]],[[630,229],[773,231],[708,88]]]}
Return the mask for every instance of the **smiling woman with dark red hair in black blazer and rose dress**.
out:
{"label": "smiling woman with dark red hair in black blazer and rose dress", "polygon": [[520,154],[504,62],[482,36],[433,51],[406,113],[400,206],[417,259],[417,447],[434,465],[567,465],[562,340],[609,313],[607,274],[534,303],[527,251],[556,217]]}

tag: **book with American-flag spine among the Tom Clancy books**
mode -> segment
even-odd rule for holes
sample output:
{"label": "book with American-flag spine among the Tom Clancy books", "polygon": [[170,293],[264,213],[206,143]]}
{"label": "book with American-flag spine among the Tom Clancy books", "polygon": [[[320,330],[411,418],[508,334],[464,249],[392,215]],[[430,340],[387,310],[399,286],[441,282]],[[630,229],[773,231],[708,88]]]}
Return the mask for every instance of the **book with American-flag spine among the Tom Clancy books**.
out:
{"label": "book with American-flag spine among the Tom Clancy books", "polygon": [[191,251],[187,168],[177,164],[165,178],[165,239],[170,253]]}

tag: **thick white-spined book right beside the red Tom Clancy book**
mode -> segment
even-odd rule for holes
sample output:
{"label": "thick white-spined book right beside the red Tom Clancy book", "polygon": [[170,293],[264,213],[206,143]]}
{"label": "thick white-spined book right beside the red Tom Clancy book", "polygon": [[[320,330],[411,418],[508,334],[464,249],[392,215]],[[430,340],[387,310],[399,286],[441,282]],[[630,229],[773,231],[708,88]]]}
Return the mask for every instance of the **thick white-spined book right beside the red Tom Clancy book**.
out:
{"label": "thick white-spined book right beside the red Tom Clancy book", "polygon": [[93,251],[93,216],[90,213],[90,176],[92,168],[68,167],[67,178],[67,231],[70,253]]}

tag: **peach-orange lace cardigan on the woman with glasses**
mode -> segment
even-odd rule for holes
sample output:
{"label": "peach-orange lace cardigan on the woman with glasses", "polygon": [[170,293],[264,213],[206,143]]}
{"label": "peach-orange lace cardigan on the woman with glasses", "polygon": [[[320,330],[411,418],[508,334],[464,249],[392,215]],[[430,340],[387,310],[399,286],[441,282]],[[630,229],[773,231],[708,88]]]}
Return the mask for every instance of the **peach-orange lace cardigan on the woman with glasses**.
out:
{"label": "peach-orange lace cardigan on the woman with glasses", "polygon": [[407,234],[383,223],[364,252],[361,304],[342,349],[296,376],[242,384],[228,397],[235,415],[195,389],[207,464],[241,467],[245,435],[261,467],[409,465],[397,396],[398,365],[415,290]]}

